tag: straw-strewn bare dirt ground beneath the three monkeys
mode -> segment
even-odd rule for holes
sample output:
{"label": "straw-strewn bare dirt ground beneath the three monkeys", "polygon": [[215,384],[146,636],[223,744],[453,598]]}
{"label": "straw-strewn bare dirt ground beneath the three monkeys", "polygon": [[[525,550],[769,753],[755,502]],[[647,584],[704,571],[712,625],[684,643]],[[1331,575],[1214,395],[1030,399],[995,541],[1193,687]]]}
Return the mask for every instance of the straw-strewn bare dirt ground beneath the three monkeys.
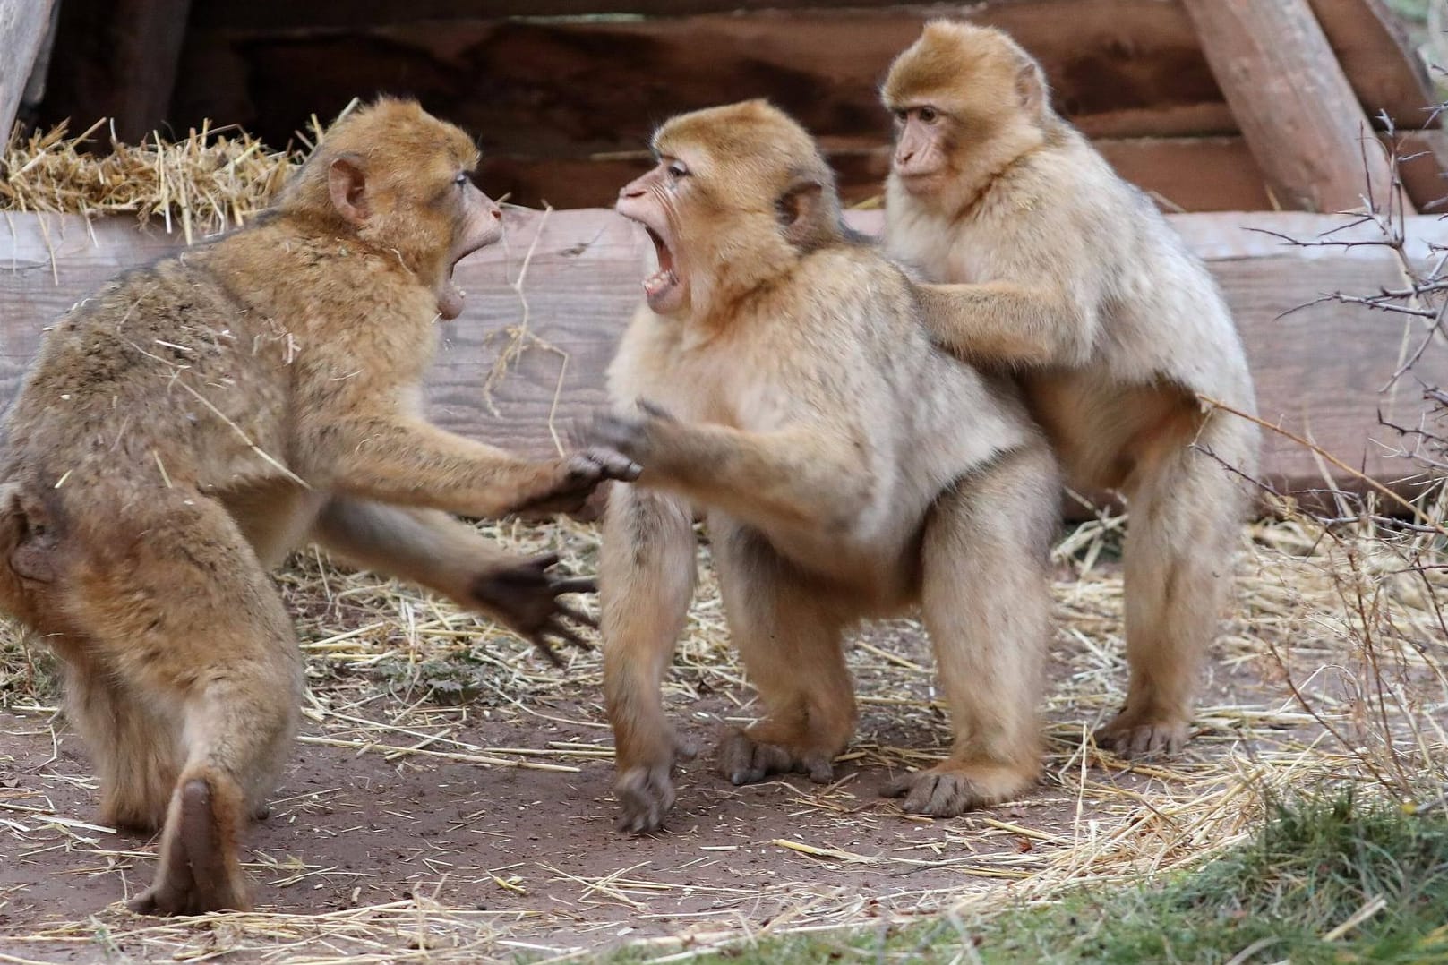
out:
{"label": "straw-strewn bare dirt ground beneath the three monkeys", "polygon": [[[531,551],[540,538],[524,543]],[[579,570],[594,545],[575,554]],[[1044,878],[1124,880],[1239,839],[1244,781],[1293,780],[1310,738],[1261,645],[1302,635],[1300,590],[1283,596],[1274,579],[1244,593],[1189,751],[1129,768],[1082,752],[1125,683],[1119,574],[1092,573],[1063,566],[1056,587],[1041,786],[950,820],[906,816],[876,794],[901,767],[940,760],[948,738],[928,645],[908,621],[851,647],[862,719],[835,784],[736,788],[715,775],[717,732],[756,707],[705,580],[668,687],[672,718],[705,754],[682,768],[668,829],[633,838],[613,828],[597,654],[550,676],[526,644],[488,637],[469,615],[304,560],[282,586],[311,692],[272,813],[246,842],[259,909],[191,920],[125,911],[151,880],[155,842],[94,825],[85,749],[55,710],[54,683],[10,644],[0,962],[549,961],[639,939],[668,956],[724,935],[883,929],[972,897],[1012,901]]]}

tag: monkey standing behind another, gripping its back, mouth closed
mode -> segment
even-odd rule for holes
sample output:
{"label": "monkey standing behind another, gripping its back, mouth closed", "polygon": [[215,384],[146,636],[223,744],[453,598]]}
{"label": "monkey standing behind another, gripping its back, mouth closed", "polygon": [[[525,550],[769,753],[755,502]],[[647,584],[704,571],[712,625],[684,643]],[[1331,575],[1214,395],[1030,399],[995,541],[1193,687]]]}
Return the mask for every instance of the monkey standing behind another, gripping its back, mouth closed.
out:
{"label": "monkey standing behind another, gripping its back, mouth closed", "polygon": [[883,101],[896,119],[886,246],[957,282],[925,295],[937,337],[1018,372],[1067,479],[1129,501],[1131,683],[1096,741],[1174,751],[1247,508],[1222,462],[1257,466],[1257,428],[1196,398],[1255,407],[1226,304],[1151,201],[1056,114],[1040,65],[1005,33],[928,23]]}

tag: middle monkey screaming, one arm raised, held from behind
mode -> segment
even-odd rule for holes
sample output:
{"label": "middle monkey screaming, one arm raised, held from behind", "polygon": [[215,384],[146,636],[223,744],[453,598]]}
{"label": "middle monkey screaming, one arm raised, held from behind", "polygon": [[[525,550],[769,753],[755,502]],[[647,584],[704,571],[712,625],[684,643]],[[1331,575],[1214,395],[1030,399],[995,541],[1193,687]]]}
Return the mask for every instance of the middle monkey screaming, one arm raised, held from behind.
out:
{"label": "middle monkey screaming, one arm raised, held from behind", "polygon": [[1006,379],[931,347],[911,281],[843,229],[789,117],[763,101],[682,114],[653,148],[617,210],[659,272],[597,428],[644,466],[610,492],[599,563],[620,828],[659,828],[675,797],[659,689],[694,587],[694,509],[766,710],[721,742],[725,777],[828,781],[856,720],[843,631],[919,602],[954,742],[886,793],[927,815],[1021,793],[1040,768],[1047,441]]}

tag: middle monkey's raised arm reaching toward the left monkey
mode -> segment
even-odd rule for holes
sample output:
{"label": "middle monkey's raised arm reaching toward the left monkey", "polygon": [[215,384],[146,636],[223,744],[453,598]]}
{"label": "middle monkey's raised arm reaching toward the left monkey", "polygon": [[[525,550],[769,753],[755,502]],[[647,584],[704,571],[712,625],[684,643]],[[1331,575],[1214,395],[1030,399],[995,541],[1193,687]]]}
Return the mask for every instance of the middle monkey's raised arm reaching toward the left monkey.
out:
{"label": "middle monkey's raised arm reaching toward the left monkey", "polygon": [[[831,531],[870,499],[862,454],[824,427],[749,433],[681,422],[647,402],[640,414],[608,414],[598,441],[647,466],[640,483],[679,492],[762,528]],[[828,496],[828,498],[825,498]]]}

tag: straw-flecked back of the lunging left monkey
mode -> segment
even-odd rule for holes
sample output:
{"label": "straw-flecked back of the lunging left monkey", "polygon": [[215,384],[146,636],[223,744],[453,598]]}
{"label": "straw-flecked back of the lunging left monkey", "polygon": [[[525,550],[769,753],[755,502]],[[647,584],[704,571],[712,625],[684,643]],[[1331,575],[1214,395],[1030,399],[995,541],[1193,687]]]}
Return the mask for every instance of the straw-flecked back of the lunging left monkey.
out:
{"label": "straw-flecked back of the lunging left monkey", "polygon": [[6,414],[3,477],[223,486],[274,472],[253,446],[284,446],[284,372],[211,258],[127,271],[56,320]]}

